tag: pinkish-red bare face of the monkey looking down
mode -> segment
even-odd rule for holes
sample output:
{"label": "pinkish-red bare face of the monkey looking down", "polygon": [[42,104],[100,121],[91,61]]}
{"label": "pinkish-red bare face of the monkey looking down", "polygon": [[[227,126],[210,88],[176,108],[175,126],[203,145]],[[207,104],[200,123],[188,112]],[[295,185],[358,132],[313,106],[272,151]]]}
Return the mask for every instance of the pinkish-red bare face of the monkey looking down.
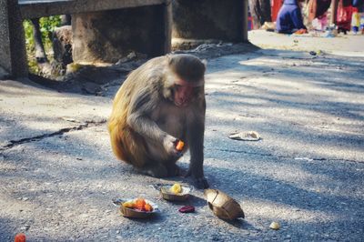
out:
{"label": "pinkish-red bare face of the monkey looking down", "polygon": [[194,90],[198,86],[203,86],[204,81],[199,81],[197,83],[188,83],[185,80],[178,79],[175,81],[174,89],[174,102],[176,106],[188,106],[189,102],[194,97]]}

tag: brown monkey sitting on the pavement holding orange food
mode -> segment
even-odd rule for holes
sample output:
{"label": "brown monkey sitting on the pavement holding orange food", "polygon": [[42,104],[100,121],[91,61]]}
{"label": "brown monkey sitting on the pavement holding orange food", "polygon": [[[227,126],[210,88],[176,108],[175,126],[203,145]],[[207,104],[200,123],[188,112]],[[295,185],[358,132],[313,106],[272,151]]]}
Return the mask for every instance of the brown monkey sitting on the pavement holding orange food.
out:
{"label": "brown monkey sitting on the pavement holding orange food", "polygon": [[[181,175],[177,160],[189,149],[186,176],[207,188],[204,176],[206,61],[194,55],[148,60],[116,92],[108,131],[114,154],[142,174]],[[178,151],[178,140],[185,142]]]}

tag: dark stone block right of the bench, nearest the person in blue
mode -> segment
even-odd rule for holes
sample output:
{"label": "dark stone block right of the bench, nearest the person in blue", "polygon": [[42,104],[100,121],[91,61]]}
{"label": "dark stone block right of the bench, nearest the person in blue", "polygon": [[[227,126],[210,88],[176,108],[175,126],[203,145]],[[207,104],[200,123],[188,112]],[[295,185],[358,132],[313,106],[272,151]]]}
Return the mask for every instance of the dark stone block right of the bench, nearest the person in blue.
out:
{"label": "dark stone block right of the bench, nearest the person in blue", "polygon": [[175,0],[172,37],[246,42],[247,7],[248,0]]}

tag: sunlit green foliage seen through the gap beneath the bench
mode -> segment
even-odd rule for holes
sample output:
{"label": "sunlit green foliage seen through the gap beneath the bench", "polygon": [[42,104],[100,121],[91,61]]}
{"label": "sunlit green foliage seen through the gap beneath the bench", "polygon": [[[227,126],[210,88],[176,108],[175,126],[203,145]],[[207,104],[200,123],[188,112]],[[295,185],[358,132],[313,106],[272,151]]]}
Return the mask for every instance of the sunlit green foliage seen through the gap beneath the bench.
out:
{"label": "sunlit green foliage seen through the gap beneath the bench", "polygon": [[[52,40],[50,36],[52,32],[55,30],[57,26],[61,24],[61,16],[48,16],[41,17],[39,19],[39,27],[42,33],[43,45],[45,46],[45,53],[48,56],[48,59],[53,59],[53,56],[50,56],[49,53],[52,51]],[[37,66],[35,60],[35,41],[33,38],[33,24],[30,20],[26,19],[23,22],[24,30],[25,30],[25,45],[26,45],[26,54],[28,56],[28,66],[32,73],[39,73],[39,68]]]}

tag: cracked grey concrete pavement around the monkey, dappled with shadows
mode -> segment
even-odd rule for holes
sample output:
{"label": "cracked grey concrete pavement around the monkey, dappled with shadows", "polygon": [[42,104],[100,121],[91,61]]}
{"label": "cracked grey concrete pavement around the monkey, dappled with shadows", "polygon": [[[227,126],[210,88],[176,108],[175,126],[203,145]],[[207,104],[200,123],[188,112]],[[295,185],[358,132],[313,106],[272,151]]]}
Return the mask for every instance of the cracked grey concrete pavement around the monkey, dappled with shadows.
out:
{"label": "cracked grey concrete pavement around the monkey, dappled with shadows", "polygon": [[[234,222],[215,217],[201,190],[174,204],[153,188],[188,179],[142,176],[116,160],[106,118],[122,78],[104,96],[2,81],[0,241],[18,232],[29,241],[362,240],[364,59],[309,55],[306,44],[208,59],[205,174],[241,203],[246,218]],[[262,139],[228,138],[248,130]],[[188,154],[178,165],[187,169]],[[120,217],[116,197],[146,197],[160,213]],[[177,212],[187,204],[196,213]]]}

